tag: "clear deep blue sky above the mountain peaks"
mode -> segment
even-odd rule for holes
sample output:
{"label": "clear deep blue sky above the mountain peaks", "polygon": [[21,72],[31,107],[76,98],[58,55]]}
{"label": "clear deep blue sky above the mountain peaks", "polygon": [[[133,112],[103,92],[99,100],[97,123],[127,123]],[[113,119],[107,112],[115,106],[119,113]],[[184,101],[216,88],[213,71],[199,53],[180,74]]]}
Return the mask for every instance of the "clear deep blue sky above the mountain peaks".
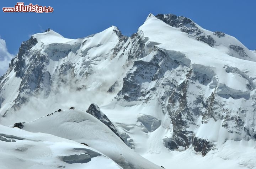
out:
{"label": "clear deep blue sky above the mountain peaks", "polygon": [[[9,0],[0,3],[0,38],[5,40],[5,48],[13,55],[17,54],[22,41],[47,28],[75,39],[114,25],[124,35],[130,36],[144,23],[149,13],[186,16],[205,29],[222,31],[236,37],[250,50],[256,49],[255,0],[24,0],[25,5],[51,6],[54,12],[2,12],[2,7],[14,7],[17,2]],[[0,56],[1,60],[3,56]]]}

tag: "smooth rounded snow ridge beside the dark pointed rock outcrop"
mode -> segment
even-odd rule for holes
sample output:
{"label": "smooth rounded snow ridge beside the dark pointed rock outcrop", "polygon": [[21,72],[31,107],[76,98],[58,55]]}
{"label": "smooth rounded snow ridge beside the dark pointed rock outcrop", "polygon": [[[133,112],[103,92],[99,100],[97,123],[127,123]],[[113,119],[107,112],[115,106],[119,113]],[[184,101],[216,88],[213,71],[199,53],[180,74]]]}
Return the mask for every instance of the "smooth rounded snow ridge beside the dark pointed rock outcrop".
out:
{"label": "smooth rounded snow ridge beside the dark pointed rock outcrop", "polygon": [[62,110],[24,123],[23,130],[49,133],[85,143],[106,154],[123,168],[160,168],[130,149],[114,132],[94,116],[77,109]]}

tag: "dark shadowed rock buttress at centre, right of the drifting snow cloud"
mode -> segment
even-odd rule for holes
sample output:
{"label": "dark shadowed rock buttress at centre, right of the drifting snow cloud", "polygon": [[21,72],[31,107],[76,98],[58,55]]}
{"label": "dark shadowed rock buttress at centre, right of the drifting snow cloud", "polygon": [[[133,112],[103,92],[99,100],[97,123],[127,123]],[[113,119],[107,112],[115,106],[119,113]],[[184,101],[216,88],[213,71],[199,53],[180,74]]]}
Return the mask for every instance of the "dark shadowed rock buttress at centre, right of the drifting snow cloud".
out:
{"label": "dark shadowed rock buttress at centre, right of the drifting snow cloud", "polygon": [[[170,52],[171,55],[179,57],[179,59],[184,59],[184,55],[178,52]],[[154,47],[151,53],[153,58],[151,61],[134,61],[133,67],[127,72],[126,77],[123,79],[123,87],[121,91],[118,92],[116,99],[125,99],[128,102],[131,101],[142,101],[144,103],[148,102],[153,98],[156,88],[165,88],[163,92],[171,93],[168,89],[174,86],[173,83],[167,83],[165,87],[162,86],[161,80],[164,81],[166,72],[175,69],[179,66],[177,60],[172,60],[165,51]],[[180,77],[179,77],[180,78]],[[161,79],[161,80],[160,80]],[[176,81],[175,79],[172,79]],[[167,80],[168,81],[168,80]],[[148,89],[145,83],[157,82],[155,87]],[[164,99],[164,96],[163,96]]]}

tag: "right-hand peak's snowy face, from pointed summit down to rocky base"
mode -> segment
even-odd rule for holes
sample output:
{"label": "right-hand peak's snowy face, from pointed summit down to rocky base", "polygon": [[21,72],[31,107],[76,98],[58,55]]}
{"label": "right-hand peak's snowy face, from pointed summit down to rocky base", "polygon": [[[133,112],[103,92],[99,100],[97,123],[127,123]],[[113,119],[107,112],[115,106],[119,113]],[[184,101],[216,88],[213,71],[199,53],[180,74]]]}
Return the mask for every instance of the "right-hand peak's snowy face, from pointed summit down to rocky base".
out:
{"label": "right-hand peak's snowy face, from pointed summit down to rocky base", "polygon": [[228,139],[256,139],[255,62],[231,57],[152,15],[139,32],[158,45],[134,61],[118,104],[160,104],[150,115],[169,115],[162,125],[172,132],[163,140],[171,150],[193,146],[205,156]]}

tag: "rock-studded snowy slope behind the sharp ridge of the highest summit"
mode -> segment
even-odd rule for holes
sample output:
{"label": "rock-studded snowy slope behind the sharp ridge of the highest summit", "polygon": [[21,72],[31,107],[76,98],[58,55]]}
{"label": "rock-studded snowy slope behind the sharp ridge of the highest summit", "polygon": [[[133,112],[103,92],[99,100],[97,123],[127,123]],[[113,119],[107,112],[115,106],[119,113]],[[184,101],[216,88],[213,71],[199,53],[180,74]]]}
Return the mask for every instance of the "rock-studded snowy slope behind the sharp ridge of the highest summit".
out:
{"label": "rock-studded snowy slope behind the sharp ridge of the highest summit", "polygon": [[[149,15],[149,17],[154,16]],[[255,53],[248,50],[236,38],[226,35],[223,32],[208,31],[194,23],[191,19],[183,16],[159,14],[156,15],[156,18],[164,21],[172,27],[178,28],[182,32],[186,32],[189,37],[207,43],[210,47],[219,49],[230,56],[244,60],[256,61]]]}

